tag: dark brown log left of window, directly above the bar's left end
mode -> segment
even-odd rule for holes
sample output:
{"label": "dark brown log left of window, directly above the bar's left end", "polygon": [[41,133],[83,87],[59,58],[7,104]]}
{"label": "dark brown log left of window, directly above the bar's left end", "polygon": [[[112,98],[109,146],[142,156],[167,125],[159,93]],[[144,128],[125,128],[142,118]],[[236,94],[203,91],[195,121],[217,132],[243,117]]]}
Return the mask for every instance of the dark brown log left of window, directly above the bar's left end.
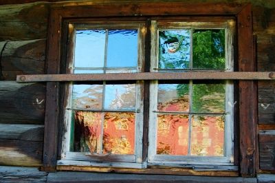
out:
{"label": "dark brown log left of window, directly above the bar's left end", "polygon": [[14,80],[17,74],[43,74],[45,46],[45,39],[8,42],[0,58],[3,79]]}

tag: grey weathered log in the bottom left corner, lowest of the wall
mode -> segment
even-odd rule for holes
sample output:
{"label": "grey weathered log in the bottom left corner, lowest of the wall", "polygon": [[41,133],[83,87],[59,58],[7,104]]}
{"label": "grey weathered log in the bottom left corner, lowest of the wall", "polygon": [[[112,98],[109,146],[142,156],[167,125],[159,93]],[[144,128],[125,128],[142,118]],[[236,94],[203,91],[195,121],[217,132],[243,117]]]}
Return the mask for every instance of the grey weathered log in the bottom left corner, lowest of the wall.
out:
{"label": "grey weathered log in the bottom left corner, lowest of the wall", "polygon": [[37,168],[0,166],[0,182],[46,182],[47,173]]}

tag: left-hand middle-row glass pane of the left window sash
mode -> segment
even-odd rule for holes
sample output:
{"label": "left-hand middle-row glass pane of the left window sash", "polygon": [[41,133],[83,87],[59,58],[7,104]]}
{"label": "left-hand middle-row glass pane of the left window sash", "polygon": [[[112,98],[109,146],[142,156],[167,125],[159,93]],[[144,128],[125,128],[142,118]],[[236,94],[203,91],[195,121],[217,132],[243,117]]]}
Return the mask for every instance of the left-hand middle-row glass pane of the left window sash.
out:
{"label": "left-hand middle-row glass pane of the left window sash", "polygon": [[103,85],[74,85],[72,107],[75,109],[102,109]]}

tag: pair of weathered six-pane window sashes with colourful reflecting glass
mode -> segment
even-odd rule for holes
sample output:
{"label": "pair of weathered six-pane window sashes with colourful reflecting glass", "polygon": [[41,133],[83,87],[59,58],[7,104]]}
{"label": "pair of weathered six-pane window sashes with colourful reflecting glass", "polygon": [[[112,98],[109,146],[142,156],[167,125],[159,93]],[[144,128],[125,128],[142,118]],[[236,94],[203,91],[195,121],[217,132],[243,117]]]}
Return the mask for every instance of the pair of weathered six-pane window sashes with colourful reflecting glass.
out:
{"label": "pair of weathered six-pane window sashes with colourful reflecting glass", "polygon": [[[70,22],[67,71],[138,73],[145,69],[145,56],[151,57],[150,71],[164,76],[168,72],[233,70],[234,20],[151,20],[150,24]],[[150,30],[151,54],[145,55]],[[150,89],[143,91],[144,80],[67,84],[67,131],[58,164],[81,161],[91,166],[138,169],[147,165],[233,165],[232,81],[152,80]],[[150,98],[145,107],[144,95]],[[144,114],[149,114],[146,132]]]}

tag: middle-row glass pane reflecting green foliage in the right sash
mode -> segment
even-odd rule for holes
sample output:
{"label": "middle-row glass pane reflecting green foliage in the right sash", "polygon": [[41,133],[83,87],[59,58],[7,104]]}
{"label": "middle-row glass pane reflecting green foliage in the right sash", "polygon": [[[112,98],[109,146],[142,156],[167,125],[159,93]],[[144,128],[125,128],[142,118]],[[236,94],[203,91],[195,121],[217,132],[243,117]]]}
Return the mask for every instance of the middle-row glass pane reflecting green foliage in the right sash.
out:
{"label": "middle-row glass pane reflecting green foliage in the right sash", "polygon": [[194,83],[192,111],[223,113],[225,111],[225,85],[222,83]]}

